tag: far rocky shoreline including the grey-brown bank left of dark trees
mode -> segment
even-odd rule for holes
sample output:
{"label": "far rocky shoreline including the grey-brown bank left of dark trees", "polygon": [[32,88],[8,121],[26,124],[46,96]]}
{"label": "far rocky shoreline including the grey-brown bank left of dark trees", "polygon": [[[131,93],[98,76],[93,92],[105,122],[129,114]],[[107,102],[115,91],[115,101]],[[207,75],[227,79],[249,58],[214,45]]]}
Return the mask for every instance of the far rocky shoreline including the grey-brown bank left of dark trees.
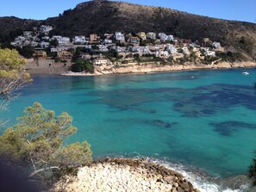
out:
{"label": "far rocky shoreline including the grey-brown bank left of dark trees", "polygon": [[28,64],[27,71],[30,74],[46,74],[46,75],[63,75],[63,76],[100,76],[110,74],[145,74],[154,72],[168,72],[168,71],[193,71],[193,70],[204,70],[204,69],[231,69],[231,68],[252,68],[256,67],[256,62],[243,61],[243,62],[220,62],[218,64],[196,64],[196,63],[185,63],[184,65],[160,65],[159,63],[140,63],[133,65],[110,65],[110,66],[97,66],[94,73],[86,72],[72,72],[68,71],[68,66],[63,67],[62,65],[42,65],[37,67]]}

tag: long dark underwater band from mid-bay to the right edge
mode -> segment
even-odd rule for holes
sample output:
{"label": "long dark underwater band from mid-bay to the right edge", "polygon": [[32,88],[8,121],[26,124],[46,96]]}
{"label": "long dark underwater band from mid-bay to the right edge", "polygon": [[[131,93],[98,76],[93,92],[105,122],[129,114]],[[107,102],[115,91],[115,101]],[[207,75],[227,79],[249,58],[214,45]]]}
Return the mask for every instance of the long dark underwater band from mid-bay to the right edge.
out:
{"label": "long dark underwater band from mid-bay to the right edge", "polygon": [[256,110],[256,95],[252,86],[232,84],[212,84],[194,89],[122,89],[103,90],[91,94],[97,96],[94,103],[107,104],[111,108],[138,110],[154,114],[154,109],[144,110],[146,102],[174,102],[172,109],[183,116],[199,117],[243,105]]}

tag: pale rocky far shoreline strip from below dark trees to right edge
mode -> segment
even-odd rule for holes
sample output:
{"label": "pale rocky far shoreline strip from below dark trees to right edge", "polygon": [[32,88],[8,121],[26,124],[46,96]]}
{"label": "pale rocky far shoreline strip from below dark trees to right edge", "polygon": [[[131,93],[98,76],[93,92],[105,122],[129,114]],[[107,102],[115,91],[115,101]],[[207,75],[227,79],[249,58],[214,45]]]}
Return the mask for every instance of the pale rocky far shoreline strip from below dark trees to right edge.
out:
{"label": "pale rocky far shoreline strip from below dark trees to right edge", "polygon": [[94,73],[72,72],[67,71],[62,73],[62,76],[102,76],[102,75],[116,75],[116,74],[151,74],[159,72],[172,71],[197,71],[197,70],[219,70],[219,69],[237,69],[237,68],[254,68],[256,62],[222,62],[217,65],[128,65],[121,67],[97,67]]}

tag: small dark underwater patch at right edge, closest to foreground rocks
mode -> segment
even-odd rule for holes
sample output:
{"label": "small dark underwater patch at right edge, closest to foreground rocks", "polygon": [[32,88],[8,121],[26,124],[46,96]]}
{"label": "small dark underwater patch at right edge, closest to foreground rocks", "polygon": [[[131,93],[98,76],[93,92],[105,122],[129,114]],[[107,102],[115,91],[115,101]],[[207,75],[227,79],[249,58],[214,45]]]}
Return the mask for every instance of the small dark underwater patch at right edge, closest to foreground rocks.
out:
{"label": "small dark underwater patch at right edge, closest to foreground rocks", "polygon": [[209,125],[215,127],[214,131],[223,136],[230,136],[243,128],[256,129],[256,125],[242,121],[223,121],[221,123],[209,123]]}

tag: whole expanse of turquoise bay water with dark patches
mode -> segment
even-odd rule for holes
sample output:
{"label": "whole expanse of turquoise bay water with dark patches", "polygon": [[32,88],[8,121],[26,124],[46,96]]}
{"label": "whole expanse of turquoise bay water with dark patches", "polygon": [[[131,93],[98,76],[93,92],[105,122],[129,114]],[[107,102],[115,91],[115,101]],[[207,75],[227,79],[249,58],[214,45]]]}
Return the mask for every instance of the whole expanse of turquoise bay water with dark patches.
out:
{"label": "whole expanse of turquoise bay water with dark patches", "polygon": [[256,70],[181,71],[101,77],[34,76],[1,114],[15,123],[41,102],[78,127],[95,158],[146,156],[210,174],[244,174],[256,149]]}

